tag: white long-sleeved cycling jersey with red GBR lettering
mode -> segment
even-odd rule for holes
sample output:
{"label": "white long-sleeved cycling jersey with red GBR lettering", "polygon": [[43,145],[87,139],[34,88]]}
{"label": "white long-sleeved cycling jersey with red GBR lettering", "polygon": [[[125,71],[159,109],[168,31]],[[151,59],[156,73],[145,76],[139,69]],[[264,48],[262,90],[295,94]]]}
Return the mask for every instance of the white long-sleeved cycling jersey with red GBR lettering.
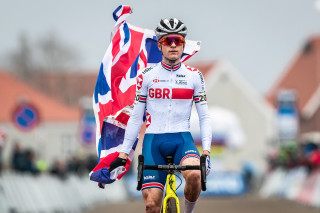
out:
{"label": "white long-sleeved cycling jersey with red GBR lettering", "polygon": [[195,102],[200,120],[203,150],[210,151],[212,130],[202,73],[179,63],[163,62],[146,68],[137,77],[136,102],[127,124],[122,152],[129,153],[135,142],[143,116],[146,133],[190,131],[190,114]]}

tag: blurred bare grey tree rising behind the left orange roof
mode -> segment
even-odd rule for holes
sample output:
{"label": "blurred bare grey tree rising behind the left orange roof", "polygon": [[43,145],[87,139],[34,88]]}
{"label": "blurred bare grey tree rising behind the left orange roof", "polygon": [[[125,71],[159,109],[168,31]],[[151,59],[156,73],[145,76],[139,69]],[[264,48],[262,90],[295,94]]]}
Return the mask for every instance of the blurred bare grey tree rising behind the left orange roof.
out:
{"label": "blurred bare grey tree rising behind the left orange roof", "polygon": [[37,72],[63,72],[78,64],[78,52],[49,32],[35,45],[25,33],[19,36],[19,46],[9,55],[11,69],[23,80]]}

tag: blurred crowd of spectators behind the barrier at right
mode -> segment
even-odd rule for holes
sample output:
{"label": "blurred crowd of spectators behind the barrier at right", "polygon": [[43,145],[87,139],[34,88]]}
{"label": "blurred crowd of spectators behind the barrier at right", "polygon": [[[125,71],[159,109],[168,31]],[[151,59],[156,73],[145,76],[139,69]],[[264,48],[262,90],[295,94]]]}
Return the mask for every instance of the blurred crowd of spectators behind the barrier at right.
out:
{"label": "blurred crowd of spectators behind the barrier at right", "polygon": [[269,167],[287,170],[305,167],[311,173],[320,169],[320,144],[315,141],[289,141],[272,150],[268,156]]}

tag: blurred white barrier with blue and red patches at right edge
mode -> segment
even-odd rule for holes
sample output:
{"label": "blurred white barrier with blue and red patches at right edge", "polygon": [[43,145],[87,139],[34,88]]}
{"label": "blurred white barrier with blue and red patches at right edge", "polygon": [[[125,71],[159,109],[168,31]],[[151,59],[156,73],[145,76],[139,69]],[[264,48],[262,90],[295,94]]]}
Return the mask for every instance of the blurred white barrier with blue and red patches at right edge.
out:
{"label": "blurred white barrier with blue and red patches at right edge", "polygon": [[289,171],[278,168],[265,176],[259,193],[320,207],[320,169],[308,174],[304,167]]}

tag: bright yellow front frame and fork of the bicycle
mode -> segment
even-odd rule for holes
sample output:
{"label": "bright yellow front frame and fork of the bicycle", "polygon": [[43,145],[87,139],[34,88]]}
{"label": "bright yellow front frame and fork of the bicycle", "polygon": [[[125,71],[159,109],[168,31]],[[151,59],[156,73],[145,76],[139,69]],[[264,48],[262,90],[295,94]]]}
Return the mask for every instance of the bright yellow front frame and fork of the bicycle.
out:
{"label": "bright yellow front frame and fork of the bicycle", "polygon": [[[174,174],[167,175],[167,187],[166,187],[166,196],[163,199],[162,212],[163,213],[173,213],[168,211],[168,203],[171,200],[175,201],[176,213],[180,213],[179,198],[176,195],[176,176]],[[174,202],[173,202],[174,204]],[[171,208],[174,208],[171,206]]]}

